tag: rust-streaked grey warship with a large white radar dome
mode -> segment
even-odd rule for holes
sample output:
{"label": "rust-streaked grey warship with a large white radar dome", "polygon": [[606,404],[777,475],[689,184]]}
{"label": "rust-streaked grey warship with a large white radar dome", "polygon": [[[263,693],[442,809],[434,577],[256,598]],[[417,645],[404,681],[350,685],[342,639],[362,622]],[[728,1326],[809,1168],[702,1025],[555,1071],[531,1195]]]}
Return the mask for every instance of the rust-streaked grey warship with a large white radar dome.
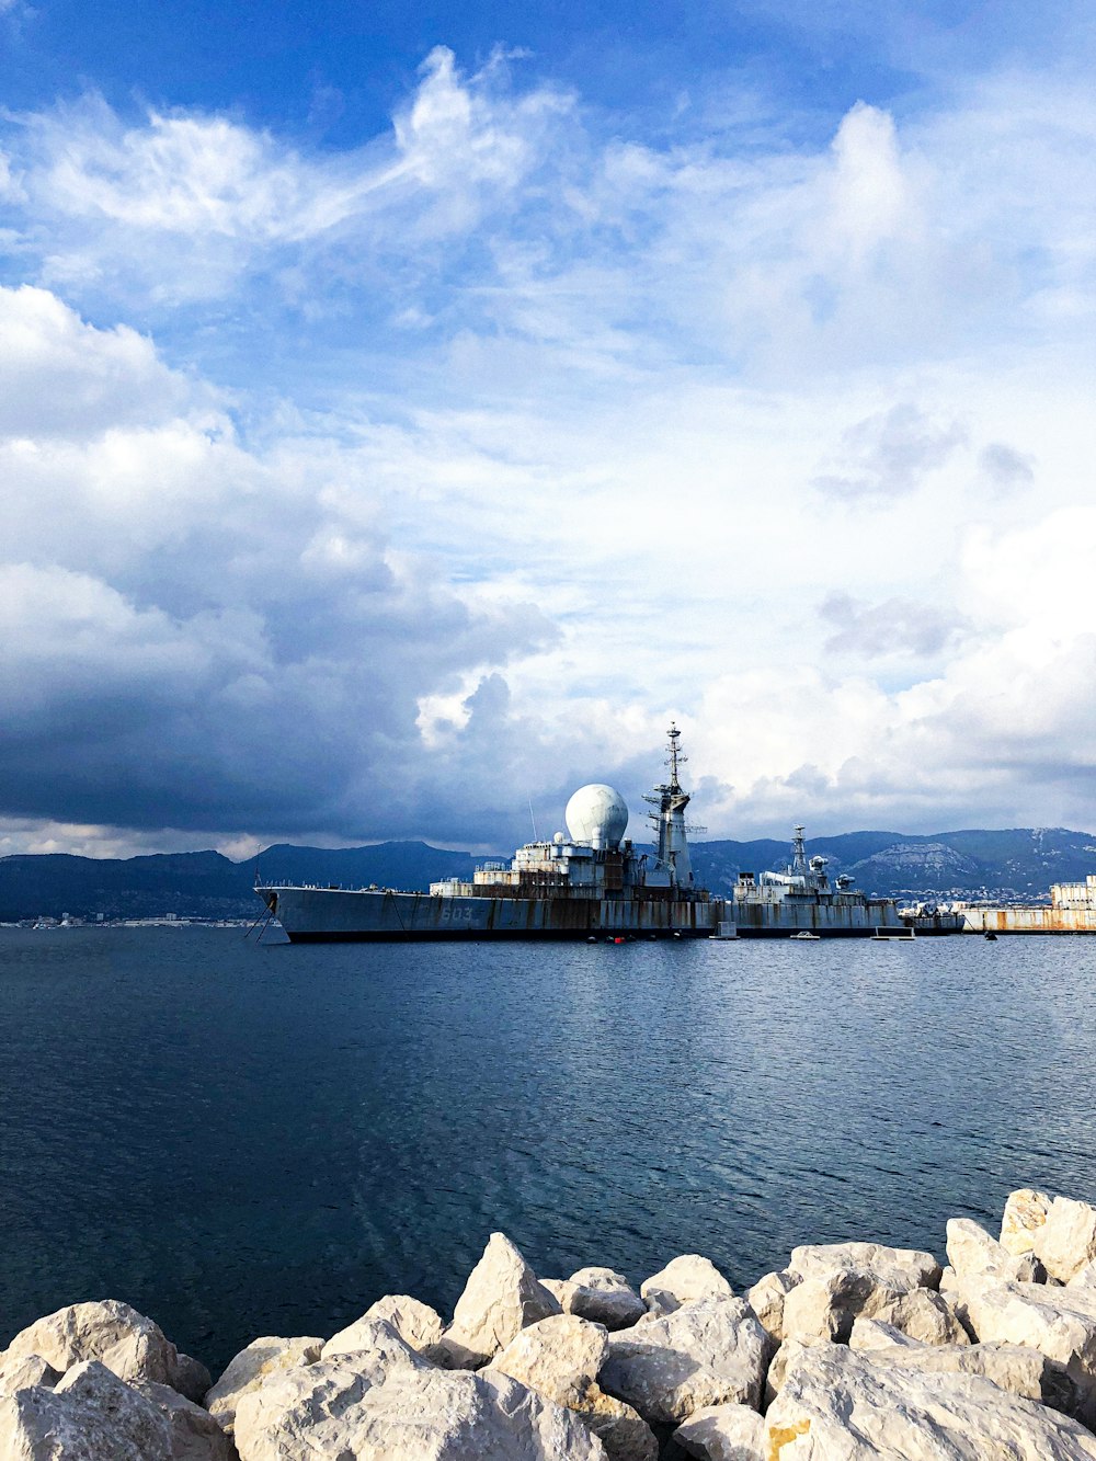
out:
{"label": "rust-streaked grey warship with a large white radar dome", "polygon": [[668,779],[644,801],[650,850],[624,833],[628,806],[602,783],[567,802],[567,831],[528,842],[513,861],[484,862],[471,881],[446,878],[428,893],[256,881],[256,893],[291,942],[476,938],[871,937],[902,928],[891,899],[868,899],[848,878],[831,884],[824,858],[807,858],[798,827],[785,872],[741,874],[728,897],[697,884],[681,786],[681,732],[671,725]]}

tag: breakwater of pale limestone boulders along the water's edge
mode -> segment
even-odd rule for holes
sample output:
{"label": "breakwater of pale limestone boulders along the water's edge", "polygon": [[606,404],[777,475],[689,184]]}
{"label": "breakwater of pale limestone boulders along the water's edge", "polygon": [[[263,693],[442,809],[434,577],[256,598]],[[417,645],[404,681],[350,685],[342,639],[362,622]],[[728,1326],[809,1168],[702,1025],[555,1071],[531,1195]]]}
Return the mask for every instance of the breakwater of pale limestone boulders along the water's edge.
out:
{"label": "breakwater of pale limestone boulders along the water's edge", "polygon": [[0,1461],[1096,1461],[1096,1207],[1013,1192],[947,1259],[810,1245],[735,1294],[693,1254],[636,1290],[495,1233],[449,1325],[389,1294],[216,1384],[80,1303],[0,1354]]}

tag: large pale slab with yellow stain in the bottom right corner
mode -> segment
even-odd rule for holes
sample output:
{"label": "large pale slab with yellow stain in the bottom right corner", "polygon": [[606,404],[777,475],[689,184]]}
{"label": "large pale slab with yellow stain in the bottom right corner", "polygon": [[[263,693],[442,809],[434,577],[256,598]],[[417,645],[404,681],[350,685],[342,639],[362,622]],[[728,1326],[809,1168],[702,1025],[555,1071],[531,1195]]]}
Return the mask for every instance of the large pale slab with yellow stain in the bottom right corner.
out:
{"label": "large pale slab with yellow stain in the bottom right corner", "polygon": [[1076,1420],[978,1375],[915,1373],[845,1346],[801,1350],[766,1416],[779,1461],[1093,1461]]}

